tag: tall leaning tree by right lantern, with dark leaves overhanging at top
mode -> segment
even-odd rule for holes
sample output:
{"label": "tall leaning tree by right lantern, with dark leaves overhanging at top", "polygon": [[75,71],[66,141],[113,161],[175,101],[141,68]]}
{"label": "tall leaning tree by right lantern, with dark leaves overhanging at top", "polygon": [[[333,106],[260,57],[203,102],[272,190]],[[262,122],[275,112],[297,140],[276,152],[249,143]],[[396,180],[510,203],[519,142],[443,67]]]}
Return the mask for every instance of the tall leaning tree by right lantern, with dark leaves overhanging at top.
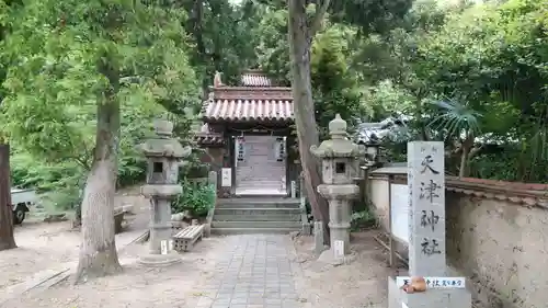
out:
{"label": "tall leaning tree by right lantern, with dark leaves overhanging at top", "polygon": [[[278,1],[272,1],[279,5]],[[272,3],[271,2],[271,3]],[[315,219],[324,221],[324,233],[329,235],[329,208],[317,192],[321,184],[319,162],[309,151],[319,144],[316,126],[315,102],[310,77],[310,48],[315,35],[321,30],[326,14],[338,21],[358,24],[362,32],[386,32],[395,21],[402,18],[411,1],[322,1],[288,0],[288,45],[292,87],[295,101],[295,124],[299,144],[300,161],[305,175],[305,187]],[[386,3],[385,3],[386,2]],[[310,16],[312,15],[312,16]],[[329,236],[324,237],[329,243]]]}

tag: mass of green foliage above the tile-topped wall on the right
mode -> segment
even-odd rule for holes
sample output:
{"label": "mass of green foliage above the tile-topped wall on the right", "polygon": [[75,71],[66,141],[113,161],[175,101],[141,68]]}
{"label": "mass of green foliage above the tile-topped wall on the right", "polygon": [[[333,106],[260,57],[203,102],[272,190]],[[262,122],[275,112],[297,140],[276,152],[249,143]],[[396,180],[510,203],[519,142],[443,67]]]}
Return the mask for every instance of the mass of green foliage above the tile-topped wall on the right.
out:
{"label": "mass of green foliage above the tile-topped wall on the right", "polygon": [[[471,140],[472,176],[547,182],[548,2],[425,4],[356,53],[374,118],[411,116],[410,138],[445,139],[452,153]],[[439,101],[458,103],[432,104]],[[449,173],[455,163],[448,157]]]}

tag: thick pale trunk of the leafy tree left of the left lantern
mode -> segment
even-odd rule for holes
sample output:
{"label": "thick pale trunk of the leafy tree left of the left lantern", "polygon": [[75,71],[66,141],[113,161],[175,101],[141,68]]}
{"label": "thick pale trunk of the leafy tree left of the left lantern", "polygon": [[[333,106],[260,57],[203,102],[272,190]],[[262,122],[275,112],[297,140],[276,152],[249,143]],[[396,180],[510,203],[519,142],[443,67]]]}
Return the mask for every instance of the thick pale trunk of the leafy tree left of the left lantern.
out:
{"label": "thick pale trunk of the leafy tree left of the left lantern", "polygon": [[93,162],[83,193],[82,244],[76,282],[122,272],[114,237],[114,193],[119,145],[119,102],[109,93],[98,102]]}

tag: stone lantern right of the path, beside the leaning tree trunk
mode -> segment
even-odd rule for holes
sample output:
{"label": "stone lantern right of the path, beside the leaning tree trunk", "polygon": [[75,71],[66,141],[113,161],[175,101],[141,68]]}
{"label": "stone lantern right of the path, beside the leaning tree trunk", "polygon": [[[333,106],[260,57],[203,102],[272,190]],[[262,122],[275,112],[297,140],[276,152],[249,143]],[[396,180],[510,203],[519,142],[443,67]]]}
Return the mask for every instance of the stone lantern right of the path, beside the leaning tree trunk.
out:
{"label": "stone lantern right of the path, beside the leaning tree trunk", "polygon": [[331,139],[319,147],[310,147],[313,156],[322,160],[322,181],[318,192],[329,202],[330,253],[336,241],[343,242],[344,254],[350,251],[351,199],[359,194],[359,186],[354,184],[357,170],[355,161],[365,155],[363,146],[346,138],[346,122],[338,114],[329,123]]}

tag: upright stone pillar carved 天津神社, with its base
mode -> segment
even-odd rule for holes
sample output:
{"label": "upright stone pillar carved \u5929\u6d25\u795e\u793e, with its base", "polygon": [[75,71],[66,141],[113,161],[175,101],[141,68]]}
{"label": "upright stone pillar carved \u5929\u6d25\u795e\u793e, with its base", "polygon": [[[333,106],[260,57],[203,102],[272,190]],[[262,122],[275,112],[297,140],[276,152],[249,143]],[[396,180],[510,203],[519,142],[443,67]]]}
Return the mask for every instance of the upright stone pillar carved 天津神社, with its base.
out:
{"label": "upright stone pillar carved \u5929\u6d25\u795e\u793e, with its base", "polygon": [[446,265],[444,161],[442,141],[408,144],[410,276],[389,278],[389,308],[471,306],[466,280]]}

